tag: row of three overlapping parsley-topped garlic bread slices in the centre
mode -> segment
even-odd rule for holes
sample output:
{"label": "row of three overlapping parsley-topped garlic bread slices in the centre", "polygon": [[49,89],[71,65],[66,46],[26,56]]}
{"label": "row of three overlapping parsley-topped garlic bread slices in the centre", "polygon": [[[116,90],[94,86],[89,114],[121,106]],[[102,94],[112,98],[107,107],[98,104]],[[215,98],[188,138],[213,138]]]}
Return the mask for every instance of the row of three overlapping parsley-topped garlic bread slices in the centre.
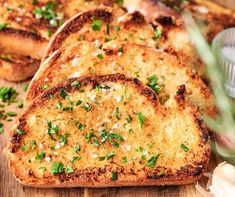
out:
{"label": "row of three overlapping parsley-topped garlic bread slices in the centre", "polygon": [[58,29],[11,132],[17,180],[110,187],[202,176],[210,157],[202,117],[215,113],[213,96],[190,66],[156,49],[158,28],[137,11],[101,6]]}

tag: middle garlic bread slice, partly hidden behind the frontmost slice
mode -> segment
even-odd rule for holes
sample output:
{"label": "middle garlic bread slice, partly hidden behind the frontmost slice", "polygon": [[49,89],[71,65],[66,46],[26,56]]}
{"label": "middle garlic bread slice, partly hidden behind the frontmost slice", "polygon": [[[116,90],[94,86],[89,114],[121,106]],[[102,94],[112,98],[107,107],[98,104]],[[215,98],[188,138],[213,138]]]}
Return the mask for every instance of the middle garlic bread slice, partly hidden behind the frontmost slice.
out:
{"label": "middle garlic bread slice, partly hidden behind the frontmost slice", "polygon": [[150,78],[155,75],[155,85],[159,85],[156,89],[161,102],[166,105],[170,105],[177,87],[185,84],[190,100],[202,113],[215,113],[209,89],[196,73],[180,64],[174,56],[136,44],[97,49],[96,42],[86,41],[61,49],[45,61],[31,81],[26,104],[66,78],[115,73],[137,77],[144,84],[151,84],[155,79]]}

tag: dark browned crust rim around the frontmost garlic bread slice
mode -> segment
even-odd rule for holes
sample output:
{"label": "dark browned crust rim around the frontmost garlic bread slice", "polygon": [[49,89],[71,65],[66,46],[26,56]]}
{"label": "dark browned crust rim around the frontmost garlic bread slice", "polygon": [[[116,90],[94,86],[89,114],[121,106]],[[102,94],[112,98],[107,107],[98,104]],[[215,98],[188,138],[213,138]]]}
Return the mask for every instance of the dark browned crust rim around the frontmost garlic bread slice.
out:
{"label": "dark browned crust rim around the frontmost garlic bread slice", "polygon": [[[103,75],[103,76],[95,76],[95,77],[83,77],[83,78],[71,78],[67,81],[57,84],[55,87],[47,90],[40,96],[38,96],[35,100],[31,102],[31,104],[24,109],[24,112],[22,113],[22,116],[19,118],[19,123],[16,125],[15,128],[24,130],[24,126],[26,125],[26,119],[25,116],[36,106],[43,105],[43,102],[47,99],[49,99],[49,96],[51,94],[58,94],[61,89],[64,89],[65,91],[72,92],[74,90],[74,87],[71,86],[71,83],[73,81],[78,81],[81,83],[81,87],[87,86],[87,85],[98,85],[100,83],[104,82],[122,82],[122,83],[130,83],[132,84],[136,90],[141,94],[147,97],[147,99],[157,108],[158,105],[158,98],[157,95],[151,90],[150,88],[144,86],[142,82],[140,82],[136,78],[126,78],[122,74],[113,74],[113,75]],[[76,170],[75,173],[72,174],[66,174],[66,173],[60,173],[58,175],[55,175],[58,180],[57,181],[50,181],[50,180],[43,180],[41,182],[37,182],[38,180],[34,178],[33,172],[29,172],[29,175],[31,176],[30,181],[21,180],[19,176],[19,172],[17,169],[14,168],[14,162],[10,161],[8,158],[8,164],[9,167],[15,176],[15,178],[21,182],[24,185],[31,186],[31,187],[113,187],[113,186],[144,186],[144,185],[183,185],[183,184],[189,184],[194,181],[197,181],[200,179],[202,174],[205,172],[210,158],[210,145],[209,145],[209,134],[208,130],[206,128],[206,125],[204,121],[201,119],[200,114],[196,107],[194,107],[192,104],[187,102],[186,98],[186,89],[185,86],[182,85],[179,87],[178,91],[176,92],[175,96],[176,102],[179,104],[178,107],[182,110],[186,107],[190,107],[191,113],[193,115],[193,118],[195,120],[196,125],[198,126],[199,131],[201,132],[201,140],[199,142],[199,146],[205,147],[205,152],[203,158],[201,158],[200,161],[196,161],[195,166],[189,166],[185,165],[180,170],[178,170],[176,173],[172,173],[171,170],[168,170],[167,174],[163,177],[159,177],[157,175],[158,169],[155,169],[155,173],[151,173],[147,171],[146,168],[146,177],[141,180],[130,180],[130,181],[111,181],[110,180],[104,180],[102,182],[95,181],[93,176],[97,176],[95,172],[91,174],[86,174],[86,171],[82,170]],[[17,152],[21,136],[17,134],[15,131],[11,132],[10,142],[8,144],[8,154],[14,154]],[[145,167],[144,167],[145,169]],[[107,166],[104,168],[97,168],[97,173],[102,174],[105,173],[107,170]],[[122,172],[124,170],[124,167],[118,166],[117,171]],[[131,172],[133,175],[135,175],[135,172]],[[86,177],[86,181],[84,181],[84,178]],[[82,180],[80,180],[82,179]]]}

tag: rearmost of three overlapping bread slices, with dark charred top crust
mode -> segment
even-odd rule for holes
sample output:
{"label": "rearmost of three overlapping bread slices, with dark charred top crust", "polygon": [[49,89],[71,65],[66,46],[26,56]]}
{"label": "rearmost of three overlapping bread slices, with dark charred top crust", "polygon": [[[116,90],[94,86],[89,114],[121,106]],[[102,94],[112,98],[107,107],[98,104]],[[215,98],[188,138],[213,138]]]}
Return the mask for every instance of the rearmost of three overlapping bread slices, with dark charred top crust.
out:
{"label": "rearmost of three overlapping bread slices, with dark charred top crust", "polygon": [[75,15],[61,26],[50,40],[44,58],[78,41],[96,41],[97,45],[137,43],[156,46],[154,29],[139,12],[103,7]]}

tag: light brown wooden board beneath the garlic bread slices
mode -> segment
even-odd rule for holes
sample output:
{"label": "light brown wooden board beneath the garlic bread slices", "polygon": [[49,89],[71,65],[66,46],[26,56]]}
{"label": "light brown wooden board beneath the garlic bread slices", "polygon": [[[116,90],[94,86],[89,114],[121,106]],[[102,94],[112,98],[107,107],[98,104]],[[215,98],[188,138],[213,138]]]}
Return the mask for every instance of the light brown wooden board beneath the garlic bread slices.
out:
{"label": "light brown wooden board beneath the garlic bread slices", "polygon": [[[23,100],[25,92],[23,85],[25,83],[10,83],[0,80],[0,87],[13,87],[19,93],[18,100]],[[14,111],[17,114],[21,113],[17,104],[5,107],[5,111]],[[201,196],[195,189],[195,184],[185,186],[168,186],[168,187],[119,187],[119,188],[102,188],[102,189],[88,189],[88,188],[71,188],[71,189],[36,189],[22,186],[18,183],[8,169],[6,158],[3,154],[3,149],[8,142],[9,132],[15,123],[16,118],[12,122],[4,123],[4,133],[0,135],[0,197],[70,197],[70,196],[85,196],[85,197],[109,197],[109,196],[174,196],[174,197],[198,197]],[[1,122],[1,120],[0,120]],[[217,162],[217,158],[212,155],[208,172],[211,172]],[[203,186],[207,183],[207,178],[203,177],[199,183]]]}

